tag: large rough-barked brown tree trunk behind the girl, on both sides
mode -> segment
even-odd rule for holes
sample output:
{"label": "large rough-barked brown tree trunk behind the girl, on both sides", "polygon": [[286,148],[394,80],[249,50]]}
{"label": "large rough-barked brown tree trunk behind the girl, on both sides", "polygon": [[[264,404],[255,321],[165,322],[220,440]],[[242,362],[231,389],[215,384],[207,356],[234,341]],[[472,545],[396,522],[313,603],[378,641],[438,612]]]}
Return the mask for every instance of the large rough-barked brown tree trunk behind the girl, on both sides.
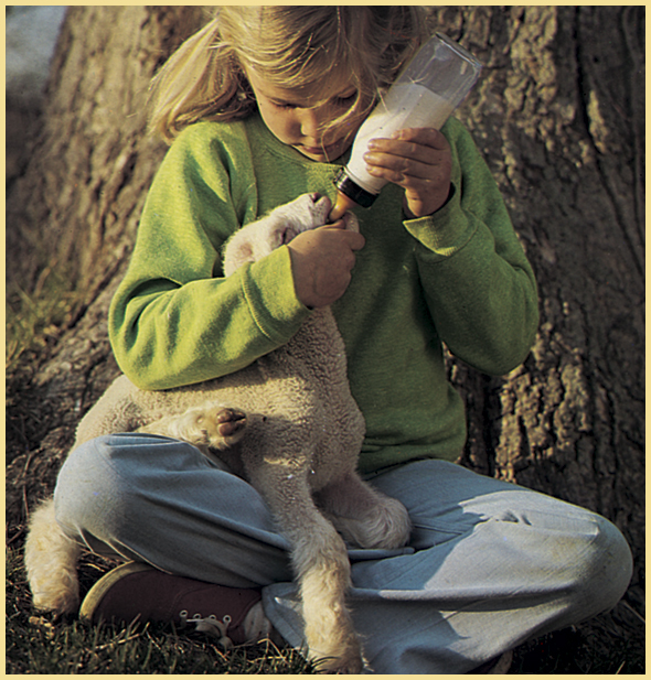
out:
{"label": "large rough-barked brown tree trunk behind the girl, on both sides", "polygon": [[[461,462],[593,508],[643,564],[641,7],[430,8],[485,65],[459,116],[510,207],[540,284],[525,364],[502,379],[450,359],[468,404]],[[57,271],[82,296],[9,382],[8,520],[50,492],[74,427],[117,374],[106,333],[164,148],[143,137],[154,69],[201,8],[74,7],[42,127],[8,199],[10,289]],[[34,253],[36,257],[34,257]],[[636,595],[633,600],[639,601]]]}

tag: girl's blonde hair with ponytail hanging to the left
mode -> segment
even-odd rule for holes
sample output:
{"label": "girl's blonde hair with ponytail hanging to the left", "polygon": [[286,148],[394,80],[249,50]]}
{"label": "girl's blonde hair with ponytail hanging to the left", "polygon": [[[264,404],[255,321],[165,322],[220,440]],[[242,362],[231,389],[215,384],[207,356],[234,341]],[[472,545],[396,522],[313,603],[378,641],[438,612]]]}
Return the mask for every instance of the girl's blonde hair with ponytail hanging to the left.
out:
{"label": "girl's blonde hair with ponytail hanging to the left", "polygon": [[153,78],[149,128],[171,142],[200,120],[246,118],[256,101],[245,69],[287,89],[354,85],[339,123],[370,109],[426,37],[419,7],[221,7]]}

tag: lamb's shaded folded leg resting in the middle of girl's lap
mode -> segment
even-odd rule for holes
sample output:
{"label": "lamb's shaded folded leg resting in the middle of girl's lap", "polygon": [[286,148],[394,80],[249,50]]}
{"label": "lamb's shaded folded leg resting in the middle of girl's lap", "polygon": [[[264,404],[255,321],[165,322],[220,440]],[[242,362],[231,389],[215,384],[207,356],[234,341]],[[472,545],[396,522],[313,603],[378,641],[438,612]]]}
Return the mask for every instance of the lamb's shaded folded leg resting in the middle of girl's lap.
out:
{"label": "lamb's shaded folded leg resting in the middle of girl's lap", "polygon": [[355,473],[320,489],[314,500],[341,535],[360,548],[402,548],[409,540],[412,524],[405,506]]}

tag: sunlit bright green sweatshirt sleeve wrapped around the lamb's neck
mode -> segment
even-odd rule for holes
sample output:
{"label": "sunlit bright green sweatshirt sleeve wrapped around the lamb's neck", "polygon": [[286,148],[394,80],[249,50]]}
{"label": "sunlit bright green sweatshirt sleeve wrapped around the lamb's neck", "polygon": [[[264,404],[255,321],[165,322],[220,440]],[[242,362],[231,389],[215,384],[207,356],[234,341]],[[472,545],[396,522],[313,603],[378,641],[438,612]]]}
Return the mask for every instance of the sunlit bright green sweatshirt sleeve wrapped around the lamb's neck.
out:
{"label": "sunlit bright green sweatshirt sleeve wrapped around the lamb's neck", "polygon": [[224,140],[220,129],[191,126],[168,151],[110,305],[117,361],[145,389],[238,370],[286,343],[309,314],[286,247],[223,277],[222,246],[257,217],[257,195],[244,130]]}

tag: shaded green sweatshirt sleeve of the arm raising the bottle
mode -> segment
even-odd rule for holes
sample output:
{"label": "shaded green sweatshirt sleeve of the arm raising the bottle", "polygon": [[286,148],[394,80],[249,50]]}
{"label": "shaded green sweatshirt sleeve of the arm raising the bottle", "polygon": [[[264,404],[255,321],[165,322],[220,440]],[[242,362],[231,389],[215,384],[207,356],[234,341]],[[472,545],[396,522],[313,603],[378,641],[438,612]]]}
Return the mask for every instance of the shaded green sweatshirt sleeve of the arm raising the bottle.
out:
{"label": "shaded green sweatshirt sleeve of the arm raising the bottle", "polygon": [[425,296],[450,352],[482,373],[504,375],[534,342],[537,289],[506,206],[463,126],[442,129],[452,149],[452,194],[434,215],[405,222]]}

